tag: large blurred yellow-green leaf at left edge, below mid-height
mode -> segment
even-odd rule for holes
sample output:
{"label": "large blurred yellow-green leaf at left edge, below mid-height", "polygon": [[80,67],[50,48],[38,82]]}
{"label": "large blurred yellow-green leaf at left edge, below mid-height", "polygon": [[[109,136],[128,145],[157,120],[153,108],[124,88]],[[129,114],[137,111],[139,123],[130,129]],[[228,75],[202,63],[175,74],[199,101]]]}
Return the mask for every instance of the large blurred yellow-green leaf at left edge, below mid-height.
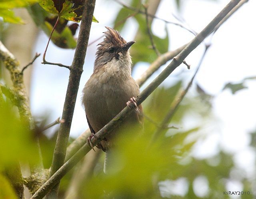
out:
{"label": "large blurred yellow-green leaf at left edge, below mid-height", "polygon": [[12,162],[36,163],[36,142],[32,132],[17,117],[13,107],[4,103],[0,111],[0,167]]}

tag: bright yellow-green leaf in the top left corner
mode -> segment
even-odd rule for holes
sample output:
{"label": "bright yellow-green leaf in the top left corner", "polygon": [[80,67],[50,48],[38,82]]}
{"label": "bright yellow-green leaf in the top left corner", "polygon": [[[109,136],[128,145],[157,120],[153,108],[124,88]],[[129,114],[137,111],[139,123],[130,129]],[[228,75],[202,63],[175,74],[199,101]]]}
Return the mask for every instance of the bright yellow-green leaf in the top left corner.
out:
{"label": "bright yellow-green leaf in the top left corner", "polygon": [[35,3],[37,0],[8,0],[0,1],[0,17],[3,18],[4,22],[8,23],[23,23],[20,17],[15,16],[11,10],[13,8],[26,7],[29,4]]}

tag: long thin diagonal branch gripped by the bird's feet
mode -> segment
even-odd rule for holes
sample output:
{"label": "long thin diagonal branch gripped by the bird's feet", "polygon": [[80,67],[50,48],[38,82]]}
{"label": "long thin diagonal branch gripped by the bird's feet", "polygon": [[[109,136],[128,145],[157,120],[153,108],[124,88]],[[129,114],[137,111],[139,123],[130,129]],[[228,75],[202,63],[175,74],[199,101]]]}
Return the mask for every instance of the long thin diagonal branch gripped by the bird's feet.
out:
{"label": "long thin diagonal branch gripped by the bird's feet", "polygon": [[[194,50],[215,28],[215,26],[238,4],[240,0],[231,0],[230,3],[202,30],[189,44],[176,56],[176,60],[172,62],[161,72],[161,74],[145,88],[141,94],[137,97],[138,105],[142,103]],[[131,104],[131,108],[125,107],[116,117],[114,117],[108,124],[106,124],[100,131],[96,133],[97,137],[92,137],[92,144],[96,145],[101,139],[106,137],[110,131],[120,125],[126,117],[133,111],[135,105]],[[44,197],[44,195],[54,186],[58,181],[78,162],[91,147],[86,143],[83,145],[75,155],[73,155],[38,191],[32,196],[32,199],[39,199]]]}

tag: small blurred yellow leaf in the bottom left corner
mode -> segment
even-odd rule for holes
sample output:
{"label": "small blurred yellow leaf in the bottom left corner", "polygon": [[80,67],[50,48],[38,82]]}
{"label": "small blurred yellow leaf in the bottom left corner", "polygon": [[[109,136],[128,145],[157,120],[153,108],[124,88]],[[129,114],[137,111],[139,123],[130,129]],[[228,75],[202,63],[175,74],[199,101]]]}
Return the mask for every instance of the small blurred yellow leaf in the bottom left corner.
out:
{"label": "small blurred yellow leaf in the bottom left corner", "polygon": [[12,185],[9,181],[0,173],[0,198],[1,199],[17,199]]}

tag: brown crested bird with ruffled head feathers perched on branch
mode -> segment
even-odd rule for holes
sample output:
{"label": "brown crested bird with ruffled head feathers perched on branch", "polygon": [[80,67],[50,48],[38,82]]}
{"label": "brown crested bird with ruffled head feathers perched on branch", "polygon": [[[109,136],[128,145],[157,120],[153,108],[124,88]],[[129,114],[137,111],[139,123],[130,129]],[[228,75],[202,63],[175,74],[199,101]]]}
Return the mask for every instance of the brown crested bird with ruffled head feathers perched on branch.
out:
{"label": "brown crested bird with ruffled head feathers perched on branch", "polygon": [[[135,42],[126,42],[117,30],[107,26],[105,28],[105,38],[97,45],[99,47],[96,51],[93,73],[82,91],[82,105],[92,133],[90,138],[124,107],[130,107],[131,103],[136,105],[136,111],[129,115],[125,123],[143,126],[142,105],[137,106],[135,99],[140,94],[140,89],[131,75],[132,59],[129,48]],[[106,152],[104,173],[107,173],[108,154],[116,144],[115,138],[120,128],[122,126],[113,129],[96,145]]]}

